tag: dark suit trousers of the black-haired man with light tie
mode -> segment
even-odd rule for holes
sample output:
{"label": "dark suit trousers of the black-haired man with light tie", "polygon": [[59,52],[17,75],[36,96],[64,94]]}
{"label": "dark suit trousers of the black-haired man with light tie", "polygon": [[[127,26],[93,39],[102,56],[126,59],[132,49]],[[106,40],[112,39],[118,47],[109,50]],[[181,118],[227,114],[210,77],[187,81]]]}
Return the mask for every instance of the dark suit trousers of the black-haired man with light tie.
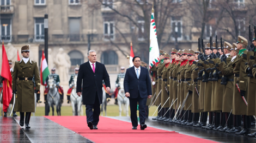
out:
{"label": "dark suit trousers of the black-haired man with light tie", "polygon": [[132,126],[137,127],[138,126],[138,117],[137,117],[137,105],[139,103],[139,123],[145,124],[146,119],[146,103],[147,98],[141,98],[140,95],[138,95],[137,98],[130,99],[130,110],[131,110],[131,121]]}

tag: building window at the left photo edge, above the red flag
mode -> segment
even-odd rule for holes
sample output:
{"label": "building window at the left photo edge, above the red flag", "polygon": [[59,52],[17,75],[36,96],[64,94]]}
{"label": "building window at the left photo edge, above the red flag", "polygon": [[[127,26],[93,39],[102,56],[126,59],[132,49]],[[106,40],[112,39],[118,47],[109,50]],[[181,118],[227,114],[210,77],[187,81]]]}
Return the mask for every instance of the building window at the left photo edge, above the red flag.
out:
{"label": "building window at the left photo edge, above the red flag", "polygon": [[11,19],[1,19],[1,40],[11,41]]}

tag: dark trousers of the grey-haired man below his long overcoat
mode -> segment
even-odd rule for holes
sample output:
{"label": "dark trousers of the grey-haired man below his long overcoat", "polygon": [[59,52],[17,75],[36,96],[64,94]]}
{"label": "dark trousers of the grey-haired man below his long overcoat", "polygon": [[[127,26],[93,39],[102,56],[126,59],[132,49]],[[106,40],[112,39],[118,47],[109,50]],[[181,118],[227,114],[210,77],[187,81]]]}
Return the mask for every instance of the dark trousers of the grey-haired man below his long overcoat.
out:
{"label": "dark trousers of the grey-haired man below his long overcoat", "polygon": [[93,125],[97,125],[100,118],[100,100],[96,92],[94,104],[86,105],[86,118],[88,122],[93,122]]}

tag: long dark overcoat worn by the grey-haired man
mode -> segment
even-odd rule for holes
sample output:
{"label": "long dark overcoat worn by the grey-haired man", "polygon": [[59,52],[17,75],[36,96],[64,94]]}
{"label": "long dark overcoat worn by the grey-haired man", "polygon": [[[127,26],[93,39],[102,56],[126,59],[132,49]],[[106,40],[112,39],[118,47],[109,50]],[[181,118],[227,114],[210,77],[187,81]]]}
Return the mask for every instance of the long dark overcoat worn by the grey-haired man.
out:
{"label": "long dark overcoat worn by the grey-haired man", "polygon": [[110,88],[109,75],[104,64],[96,62],[95,73],[93,73],[89,61],[80,65],[76,82],[76,92],[83,91],[84,105],[94,104],[96,92],[100,103],[102,103],[102,80],[104,80],[106,87]]}

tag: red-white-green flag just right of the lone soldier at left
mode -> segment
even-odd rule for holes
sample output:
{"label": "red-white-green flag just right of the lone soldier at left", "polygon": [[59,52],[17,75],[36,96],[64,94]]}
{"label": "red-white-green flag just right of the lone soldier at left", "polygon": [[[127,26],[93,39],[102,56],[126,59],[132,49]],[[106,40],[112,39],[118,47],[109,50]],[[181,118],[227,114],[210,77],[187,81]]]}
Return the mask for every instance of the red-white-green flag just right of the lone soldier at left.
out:
{"label": "red-white-green flag just right of the lone soldier at left", "polygon": [[50,74],[48,69],[48,64],[45,59],[44,51],[42,51],[42,61],[41,61],[41,71],[40,71],[40,79],[41,79],[41,85],[46,86],[46,78]]}

